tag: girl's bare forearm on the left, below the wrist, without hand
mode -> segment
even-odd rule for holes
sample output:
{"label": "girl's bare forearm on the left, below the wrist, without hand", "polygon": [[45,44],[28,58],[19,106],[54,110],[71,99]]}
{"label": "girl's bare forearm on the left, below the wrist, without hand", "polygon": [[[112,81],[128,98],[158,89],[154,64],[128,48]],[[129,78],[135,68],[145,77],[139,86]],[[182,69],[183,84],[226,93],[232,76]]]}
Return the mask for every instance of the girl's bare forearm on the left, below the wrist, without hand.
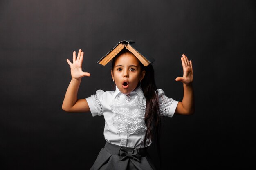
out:
{"label": "girl's bare forearm on the left, below the wrist, without hand", "polygon": [[81,83],[81,79],[72,78],[65,94],[62,109],[69,110],[77,101],[77,93]]}

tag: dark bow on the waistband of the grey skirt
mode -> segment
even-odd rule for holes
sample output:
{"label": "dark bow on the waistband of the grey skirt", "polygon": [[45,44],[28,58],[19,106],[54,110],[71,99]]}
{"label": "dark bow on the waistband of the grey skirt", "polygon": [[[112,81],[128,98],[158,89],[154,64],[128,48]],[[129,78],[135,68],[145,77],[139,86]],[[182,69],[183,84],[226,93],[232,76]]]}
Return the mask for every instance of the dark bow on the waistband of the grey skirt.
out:
{"label": "dark bow on the waistband of the grey skirt", "polygon": [[119,155],[119,161],[122,161],[127,158],[132,158],[140,162],[139,148],[135,148],[132,151],[127,151],[124,147],[121,147],[119,149],[118,155]]}

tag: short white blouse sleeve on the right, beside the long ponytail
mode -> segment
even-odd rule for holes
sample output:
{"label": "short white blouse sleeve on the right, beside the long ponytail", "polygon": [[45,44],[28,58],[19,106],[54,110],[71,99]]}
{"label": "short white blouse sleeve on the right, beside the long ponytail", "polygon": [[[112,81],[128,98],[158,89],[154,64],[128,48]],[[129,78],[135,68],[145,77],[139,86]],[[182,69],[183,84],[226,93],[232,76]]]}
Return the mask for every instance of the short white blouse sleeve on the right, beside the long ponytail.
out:
{"label": "short white blouse sleeve on the right, beside the long ponytail", "polygon": [[159,108],[164,116],[173,117],[178,101],[164,95],[162,89],[158,89]]}

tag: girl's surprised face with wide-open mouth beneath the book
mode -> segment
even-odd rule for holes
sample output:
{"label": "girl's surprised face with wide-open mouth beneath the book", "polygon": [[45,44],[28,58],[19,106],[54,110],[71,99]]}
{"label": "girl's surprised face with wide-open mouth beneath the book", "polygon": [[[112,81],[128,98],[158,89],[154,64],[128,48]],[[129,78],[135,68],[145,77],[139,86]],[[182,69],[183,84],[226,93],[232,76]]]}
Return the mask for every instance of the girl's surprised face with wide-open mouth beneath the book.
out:
{"label": "girl's surprised face with wide-open mouth beneath the book", "polygon": [[137,57],[127,52],[115,60],[111,75],[119,91],[127,95],[135,90],[139,81],[144,78],[145,71],[141,71]]}

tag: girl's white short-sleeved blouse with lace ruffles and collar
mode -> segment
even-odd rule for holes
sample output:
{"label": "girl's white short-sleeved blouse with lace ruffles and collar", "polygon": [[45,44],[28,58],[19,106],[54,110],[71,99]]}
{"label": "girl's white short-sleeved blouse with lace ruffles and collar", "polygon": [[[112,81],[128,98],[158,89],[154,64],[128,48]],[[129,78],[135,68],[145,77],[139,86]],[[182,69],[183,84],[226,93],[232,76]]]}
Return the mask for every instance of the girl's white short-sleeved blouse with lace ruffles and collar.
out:
{"label": "girl's white short-sleeved blouse with lace ruffles and collar", "polygon": [[[121,93],[117,86],[115,91],[97,90],[86,100],[92,116],[104,115],[106,141],[119,146],[144,147],[146,99],[141,86],[128,95]],[[178,101],[166,97],[164,91],[158,89],[158,102],[162,114],[172,117]],[[150,146],[151,141],[146,145]]]}

